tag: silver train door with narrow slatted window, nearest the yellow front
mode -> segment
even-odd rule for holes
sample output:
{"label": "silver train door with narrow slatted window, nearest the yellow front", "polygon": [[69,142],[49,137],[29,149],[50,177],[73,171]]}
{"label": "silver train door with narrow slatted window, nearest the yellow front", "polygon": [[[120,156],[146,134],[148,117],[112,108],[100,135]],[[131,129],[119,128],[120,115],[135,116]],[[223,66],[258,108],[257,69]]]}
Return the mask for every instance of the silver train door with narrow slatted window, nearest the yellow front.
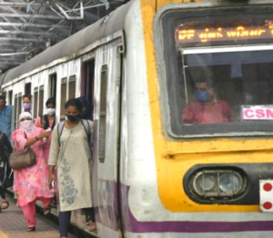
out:
{"label": "silver train door with narrow slatted window, nearest the yellow front", "polygon": [[120,41],[96,52],[93,199],[99,237],[120,237],[119,131],[122,56]]}

